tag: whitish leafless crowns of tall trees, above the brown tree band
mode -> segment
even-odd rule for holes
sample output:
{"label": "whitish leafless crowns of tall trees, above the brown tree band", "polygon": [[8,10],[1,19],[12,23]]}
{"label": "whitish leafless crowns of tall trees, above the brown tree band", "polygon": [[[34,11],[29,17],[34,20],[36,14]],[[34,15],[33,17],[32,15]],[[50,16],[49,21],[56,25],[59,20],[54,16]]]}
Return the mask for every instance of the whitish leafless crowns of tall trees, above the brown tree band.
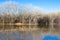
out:
{"label": "whitish leafless crowns of tall trees, above the brown tree band", "polygon": [[0,3],[1,12],[16,13],[20,12],[22,9],[25,9],[25,11],[32,13],[43,13],[42,8],[35,6],[32,3],[19,4],[17,2],[11,2],[11,1]]}

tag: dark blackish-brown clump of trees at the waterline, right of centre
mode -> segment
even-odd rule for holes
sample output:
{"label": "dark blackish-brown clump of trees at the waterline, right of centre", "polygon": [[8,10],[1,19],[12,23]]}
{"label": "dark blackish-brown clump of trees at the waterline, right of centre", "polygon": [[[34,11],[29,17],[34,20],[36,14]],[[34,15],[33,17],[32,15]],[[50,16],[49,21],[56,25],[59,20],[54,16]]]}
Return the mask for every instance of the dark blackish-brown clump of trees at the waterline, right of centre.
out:
{"label": "dark blackish-brown clump of trees at the waterline, right of centre", "polygon": [[38,27],[40,27],[40,28],[48,28],[49,22],[50,22],[49,17],[39,18],[37,20]]}

